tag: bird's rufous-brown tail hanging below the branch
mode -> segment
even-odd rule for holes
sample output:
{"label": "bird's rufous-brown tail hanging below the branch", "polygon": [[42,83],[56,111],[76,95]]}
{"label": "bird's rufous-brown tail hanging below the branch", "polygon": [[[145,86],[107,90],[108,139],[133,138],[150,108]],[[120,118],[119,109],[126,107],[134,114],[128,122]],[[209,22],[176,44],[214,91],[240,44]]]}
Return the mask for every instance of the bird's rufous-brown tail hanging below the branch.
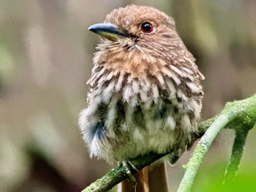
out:
{"label": "bird's rufous-brown tail hanging below the branch", "polygon": [[[137,181],[136,192],[169,192],[165,164],[151,169],[147,166],[134,174]],[[134,182],[126,179],[118,185],[118,192],[135,192],[134,186]]]}

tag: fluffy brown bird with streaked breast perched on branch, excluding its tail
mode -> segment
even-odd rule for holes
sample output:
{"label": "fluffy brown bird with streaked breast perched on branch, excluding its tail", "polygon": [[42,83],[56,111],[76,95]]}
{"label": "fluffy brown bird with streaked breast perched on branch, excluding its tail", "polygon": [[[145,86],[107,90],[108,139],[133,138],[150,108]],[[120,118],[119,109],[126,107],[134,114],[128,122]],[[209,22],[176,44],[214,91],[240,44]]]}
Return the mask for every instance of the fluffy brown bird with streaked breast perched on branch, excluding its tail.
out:
{"label": "fluffy brown bird with streaked breast perched on branch, excluding its tail", "polygon": [[139,155],[170,152],[174,164],[198,131],[204,79],[174,19],[132,4],[88,30],[101,37],[78,122],[90,157],[122,164],[132,180]]}

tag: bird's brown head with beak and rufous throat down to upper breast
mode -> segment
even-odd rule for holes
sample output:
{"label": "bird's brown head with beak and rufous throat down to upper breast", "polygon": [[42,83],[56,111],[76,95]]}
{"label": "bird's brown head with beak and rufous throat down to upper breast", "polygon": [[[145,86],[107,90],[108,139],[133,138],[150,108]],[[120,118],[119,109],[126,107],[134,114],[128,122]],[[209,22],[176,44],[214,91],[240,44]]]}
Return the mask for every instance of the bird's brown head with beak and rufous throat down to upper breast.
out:
{"label": "bird's brown head with beak and rufous throat down to upper breast", "polygon": [[167,65],[194,65],[193,56],[176,33],[174,20],[152,7],[114,9],[104,23],[88,30],[103,37],[94,63],[110,70],[155,75]]}

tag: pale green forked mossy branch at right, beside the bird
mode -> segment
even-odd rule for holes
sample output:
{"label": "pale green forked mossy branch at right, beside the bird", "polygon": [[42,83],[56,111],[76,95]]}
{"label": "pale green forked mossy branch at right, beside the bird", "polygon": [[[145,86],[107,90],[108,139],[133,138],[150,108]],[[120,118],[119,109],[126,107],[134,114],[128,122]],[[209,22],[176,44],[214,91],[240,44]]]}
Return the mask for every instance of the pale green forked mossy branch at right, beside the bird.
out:
{"label": "pale green forked mossy branch at right, beside the bird", "polygon": [[[231,159],[227,168],[226,179],[234,178],[239,167],[243,147],[248,131],[256,122],[256,95],[242,101],[227,103],[221,115],[211,124],[197,144],[188,164],[178,192],[190,192],[194,178],[206,152],[217,134],[224,127],[232,127],[236,131]],[[237,158],[237,159],[236,159]]]}

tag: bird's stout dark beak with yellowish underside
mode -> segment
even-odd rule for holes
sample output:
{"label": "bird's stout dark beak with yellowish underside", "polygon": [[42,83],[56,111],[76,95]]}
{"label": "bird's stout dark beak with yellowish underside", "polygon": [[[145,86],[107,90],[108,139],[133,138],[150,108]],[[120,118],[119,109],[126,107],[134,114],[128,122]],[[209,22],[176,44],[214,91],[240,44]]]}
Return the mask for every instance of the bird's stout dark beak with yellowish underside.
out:
{"label": "bird's stout dark beak with yellowish underside", "polygon": [[127,33],[117,29],[115,25],[110,23],[95,24],[90,26],[88,30],[97,33],[110,41],[115,41],[118,38],[130,37]]}

